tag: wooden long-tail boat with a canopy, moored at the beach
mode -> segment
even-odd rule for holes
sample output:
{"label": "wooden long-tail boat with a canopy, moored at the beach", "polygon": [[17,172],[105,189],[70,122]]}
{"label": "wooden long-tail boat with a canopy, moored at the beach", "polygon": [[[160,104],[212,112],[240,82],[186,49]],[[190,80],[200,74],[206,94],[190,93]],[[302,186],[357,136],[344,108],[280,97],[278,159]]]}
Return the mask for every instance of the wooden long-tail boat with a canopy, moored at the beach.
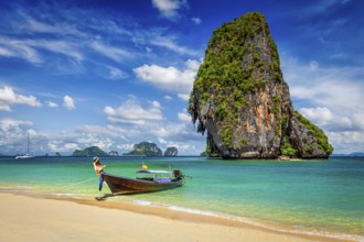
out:
{"label": "wooden long-tail boat with a canopy, moored at the beach", "polygon": [[100,175],[114,195],[165,190],[184,184],[184,175],[178,169],[173,172],[141,169],[137,172],[136,178],[105,172]]}

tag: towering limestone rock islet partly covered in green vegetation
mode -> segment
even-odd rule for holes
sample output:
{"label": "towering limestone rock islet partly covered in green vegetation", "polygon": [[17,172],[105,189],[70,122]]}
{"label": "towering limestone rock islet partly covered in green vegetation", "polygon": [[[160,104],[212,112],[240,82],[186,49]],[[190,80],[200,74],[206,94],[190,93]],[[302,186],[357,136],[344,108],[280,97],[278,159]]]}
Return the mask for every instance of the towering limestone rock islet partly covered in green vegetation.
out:
{"label": "towering limestone rock islet partly covered in green vegetation", "polygon": [[225,158],[326,158],[324,133],[293,110],[277,46],[260,13],[214,31],[190,97],[206,152]]}

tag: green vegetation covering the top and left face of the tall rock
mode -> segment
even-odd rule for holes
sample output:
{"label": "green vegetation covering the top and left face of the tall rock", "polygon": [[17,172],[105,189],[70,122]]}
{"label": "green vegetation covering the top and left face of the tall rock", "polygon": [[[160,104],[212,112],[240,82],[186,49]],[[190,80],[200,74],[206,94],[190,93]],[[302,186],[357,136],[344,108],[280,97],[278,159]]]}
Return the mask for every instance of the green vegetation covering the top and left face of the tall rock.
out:
{"label": "green vegetation covering the top and left face of the tall rock", "polygon": [[[233,129],[238,123],[240,110],[248,107],[246,95],[258,91],[265,85],[261,75],[256,74],[270,68],[274,72],[272,78],[282,81],[277,46],[270,34],[267,33],[272,53],[270,66],[265,66],[267,64],[261,59],[266,56],[260,56],[253,44],[261,31],[268,31],[268,26],[264,15],[257,12],[215,30],[194,81],[189,105],[193,122],[197,120],[195,96],[200,97],[200,106],[213,101],[214,120],[222,127],[222,142],[225,146],[233,145]],[[203,133],[204,130],[204,125],[199,123],[197,131]]]}

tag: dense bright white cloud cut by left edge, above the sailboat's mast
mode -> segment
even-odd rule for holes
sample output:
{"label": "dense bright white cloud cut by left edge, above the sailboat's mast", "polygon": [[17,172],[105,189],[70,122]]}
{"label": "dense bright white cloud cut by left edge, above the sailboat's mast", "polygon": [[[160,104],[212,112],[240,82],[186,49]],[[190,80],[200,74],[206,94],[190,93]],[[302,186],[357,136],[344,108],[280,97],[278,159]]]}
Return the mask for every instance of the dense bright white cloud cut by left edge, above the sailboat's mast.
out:
{"label": "dense bright white cloud cut by left edge, above the sailboat's mast", "polygon": [[11,106],[13,105],[26,105],[31,107],[42,106],[41,102],[33,96],[15,94],[9,86],[0,88],[0,111],[11,111]]}

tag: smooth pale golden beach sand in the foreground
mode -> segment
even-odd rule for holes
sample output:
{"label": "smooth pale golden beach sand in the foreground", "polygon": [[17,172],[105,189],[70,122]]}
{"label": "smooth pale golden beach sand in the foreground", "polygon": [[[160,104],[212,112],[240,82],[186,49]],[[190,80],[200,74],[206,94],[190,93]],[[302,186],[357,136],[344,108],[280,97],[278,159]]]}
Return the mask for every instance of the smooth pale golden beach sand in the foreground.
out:
{"label": "smooth pale golden beach sand in the foreground", "polygon": [[0,241],[318,241],[208,216],[0,193]]}

